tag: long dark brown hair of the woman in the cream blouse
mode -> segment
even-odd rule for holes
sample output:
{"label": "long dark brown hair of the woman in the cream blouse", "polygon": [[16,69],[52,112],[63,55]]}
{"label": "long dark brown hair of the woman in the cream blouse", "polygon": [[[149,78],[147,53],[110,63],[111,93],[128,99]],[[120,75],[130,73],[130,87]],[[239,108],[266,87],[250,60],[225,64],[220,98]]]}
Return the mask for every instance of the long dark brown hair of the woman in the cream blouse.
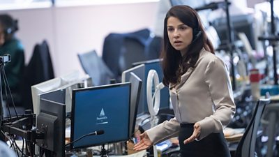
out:
{"label": "long dark brown hair of the woman in the cream blouse", "polygon": [[[192,40],[192,43],[188,46],[188,51],[183,56],[169,43],[169,37],[167,36],[167,20],[169,17],[176,17],[183,24],[193,29],[193,40],[195,41]],[[214,54],[211,41],[206,36],[197,12],[190,6],[173,6],[170,8],[164,21],[163,51],[161,53],[161,58],[163,58],[163,83],[168,86],[169,83],[180,82],[181,75],[186,73],[188,68],[195,67],[202,48]]]}

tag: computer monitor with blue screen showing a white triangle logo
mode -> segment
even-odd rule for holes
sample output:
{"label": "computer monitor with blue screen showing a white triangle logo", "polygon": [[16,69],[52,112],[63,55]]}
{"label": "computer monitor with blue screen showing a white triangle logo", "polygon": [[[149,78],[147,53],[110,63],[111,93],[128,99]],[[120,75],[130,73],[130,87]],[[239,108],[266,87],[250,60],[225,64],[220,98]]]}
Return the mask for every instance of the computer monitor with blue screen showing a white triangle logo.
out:
{"label": "computer monitor with blue screen showing a white triangle logo", "polygon": [[104,130],[103,135],[86,136],[72,149],[129,139],[130,82],[73,90],[70,140]]}

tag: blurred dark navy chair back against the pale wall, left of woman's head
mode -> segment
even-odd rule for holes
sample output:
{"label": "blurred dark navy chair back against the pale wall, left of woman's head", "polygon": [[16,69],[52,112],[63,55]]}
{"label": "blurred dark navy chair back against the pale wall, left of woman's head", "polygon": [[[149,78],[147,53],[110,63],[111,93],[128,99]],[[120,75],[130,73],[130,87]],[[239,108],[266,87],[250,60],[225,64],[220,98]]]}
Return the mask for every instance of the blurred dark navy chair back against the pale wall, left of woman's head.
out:
{"label": "blurred dark navy chair back against the pale wall, left of woman's head", "polygon": [[120,82],[122,72],[131,68],[133,63],[158,59],[162,40],[153,36],[149,29],[110,33],[105,37],[102,58]]}

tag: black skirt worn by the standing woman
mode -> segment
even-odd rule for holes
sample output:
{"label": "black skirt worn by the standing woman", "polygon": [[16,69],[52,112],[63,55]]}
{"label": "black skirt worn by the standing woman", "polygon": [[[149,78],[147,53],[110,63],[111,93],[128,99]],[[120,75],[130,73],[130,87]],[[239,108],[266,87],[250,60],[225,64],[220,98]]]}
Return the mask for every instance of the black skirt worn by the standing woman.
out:
{"label": "black skirt worn by the standing woman", "polygon": [[188,144],[183,141],[193,135],[194,124],[181,124],[179,130],[179,147],[181,157],[230,157],[225,136],[222,133],[211,133],[202,140]]}

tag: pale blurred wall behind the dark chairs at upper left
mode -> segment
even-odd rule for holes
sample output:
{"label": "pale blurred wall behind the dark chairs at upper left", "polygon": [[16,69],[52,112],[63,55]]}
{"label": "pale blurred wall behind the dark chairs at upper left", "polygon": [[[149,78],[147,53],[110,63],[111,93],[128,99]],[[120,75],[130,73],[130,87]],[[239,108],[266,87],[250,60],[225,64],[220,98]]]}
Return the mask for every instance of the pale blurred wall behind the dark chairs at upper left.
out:
{"label": "pale blurred wall behind the dark chairs at upper left", "polygon": [[109,33],[126,33],[151,28],[156,17],[157,2],[116,5],[52,7],[0,11],[19,20],[17,37],[25,47],[26,63],[33,47],[46,39],[60,76],[82,67],[77,54],[96,50],[103,52],[103,41]]}

